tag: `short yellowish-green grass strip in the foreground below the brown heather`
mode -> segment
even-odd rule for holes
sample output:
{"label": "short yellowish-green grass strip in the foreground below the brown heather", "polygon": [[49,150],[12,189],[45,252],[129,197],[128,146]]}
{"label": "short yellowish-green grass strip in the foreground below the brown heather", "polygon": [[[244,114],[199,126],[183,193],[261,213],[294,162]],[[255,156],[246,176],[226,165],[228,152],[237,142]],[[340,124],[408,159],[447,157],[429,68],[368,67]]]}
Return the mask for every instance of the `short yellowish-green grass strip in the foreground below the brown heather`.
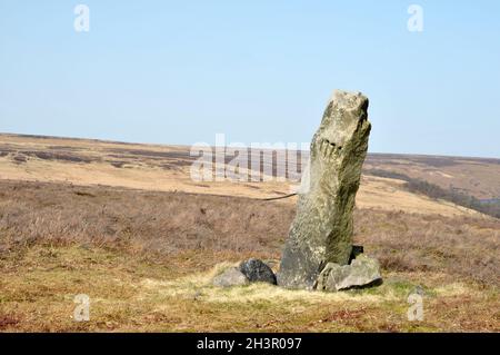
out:
{"label": "short yellowish-green grass strip in the foreground below the brown heather", "polygon": [[[269,285],[219,289],[209,284],[214,269],[190,268],[182,257],[167,265],[102,248],[33,246],[0,265],[0,331],[499,331],[497,290],[467,283],[443,287],[404,273],[386,273],[386,283],[373,289],[311,294]],[[424,321],[411,323],[407,297],[417,285],[426,290]],[[72,319],[73,297],[81,293],[91,300],[86,323]]]}

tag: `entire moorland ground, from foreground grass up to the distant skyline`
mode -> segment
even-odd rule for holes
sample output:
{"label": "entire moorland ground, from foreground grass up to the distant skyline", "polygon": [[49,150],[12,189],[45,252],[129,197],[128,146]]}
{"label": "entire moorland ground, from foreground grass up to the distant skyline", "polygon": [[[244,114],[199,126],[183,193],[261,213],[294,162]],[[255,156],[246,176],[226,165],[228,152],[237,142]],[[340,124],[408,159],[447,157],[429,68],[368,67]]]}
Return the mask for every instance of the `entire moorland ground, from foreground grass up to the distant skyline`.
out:
{"label": "entire moorland ground, from foreground grass up to the distant skyline", "polygon": [[[290,183],[192,181],[187,147],[0,135],[0,331],[499,332],[500,220],[411,191],[397,174],[459,169],[484,193],[459,178],[463,194],[494,198],[498,179],[482,175],[500,165],[414,158],[370,156],[366,172],[389,175],[366,174],[357,197],[354,241],[380,260],[382,286],[218,289],[210,278],[231,263],[278,267],[296,198],[262,198]],[[78,323],[82,293],[90,322]]]}

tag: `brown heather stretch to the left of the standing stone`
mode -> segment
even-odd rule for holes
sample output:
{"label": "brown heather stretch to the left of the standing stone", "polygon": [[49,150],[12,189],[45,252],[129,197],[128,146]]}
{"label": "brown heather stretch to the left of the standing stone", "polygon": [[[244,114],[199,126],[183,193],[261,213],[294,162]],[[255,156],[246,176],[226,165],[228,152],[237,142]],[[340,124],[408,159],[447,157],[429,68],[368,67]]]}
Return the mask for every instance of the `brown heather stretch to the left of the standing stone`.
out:
{"label": "brown heather stretch to the left of the standing stone", "polygon": [[132,253],[271,253],[292,208],[248,198],[0,181],[0,245],[91,243]]}

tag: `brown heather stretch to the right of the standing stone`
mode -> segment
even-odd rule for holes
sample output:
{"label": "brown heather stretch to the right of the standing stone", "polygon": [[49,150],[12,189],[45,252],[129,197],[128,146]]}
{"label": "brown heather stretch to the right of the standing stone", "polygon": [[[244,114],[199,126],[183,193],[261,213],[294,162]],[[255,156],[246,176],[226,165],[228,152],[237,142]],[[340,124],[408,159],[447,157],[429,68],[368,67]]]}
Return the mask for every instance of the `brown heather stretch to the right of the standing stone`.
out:
{"label": "brown heather stretch to the right of the standing stone", "polygon": [[386,269],[444,273],[500,285],[500,220],[374,209],[356,215],[356,241]]}

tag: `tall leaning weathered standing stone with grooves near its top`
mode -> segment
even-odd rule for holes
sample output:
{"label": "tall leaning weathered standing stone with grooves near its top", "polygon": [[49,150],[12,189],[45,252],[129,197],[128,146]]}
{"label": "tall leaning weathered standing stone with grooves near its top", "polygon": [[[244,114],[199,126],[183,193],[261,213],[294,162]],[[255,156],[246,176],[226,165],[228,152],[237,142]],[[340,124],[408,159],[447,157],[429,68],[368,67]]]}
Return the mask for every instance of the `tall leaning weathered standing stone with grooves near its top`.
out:
{"label": "tall leaning weathered standing stone with grooves near its top", "polygon": [[314,287],[328,263],[349,264],[356,194],[371,125],[368,98],[334,91],[312,138],[297,215],[284,245],[278,284]]}

